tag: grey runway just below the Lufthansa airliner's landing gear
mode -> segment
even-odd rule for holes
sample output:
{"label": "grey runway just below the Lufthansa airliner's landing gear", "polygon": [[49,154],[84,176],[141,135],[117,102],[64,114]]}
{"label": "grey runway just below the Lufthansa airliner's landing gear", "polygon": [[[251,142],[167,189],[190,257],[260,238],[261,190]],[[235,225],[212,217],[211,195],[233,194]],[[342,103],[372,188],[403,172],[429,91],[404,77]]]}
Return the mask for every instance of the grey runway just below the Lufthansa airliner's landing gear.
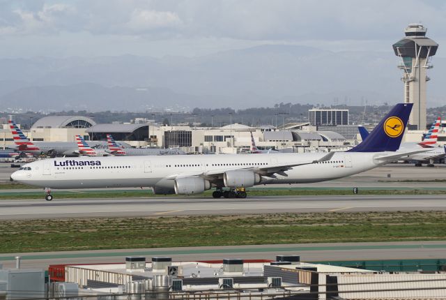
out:
{"label": "grey runway just below the Lufthansa airliner's landing gear", "polygon": [[1,200],[0,220],[446,210],[445,195],[271,196],[247,199],[150,197],[74,200]]}

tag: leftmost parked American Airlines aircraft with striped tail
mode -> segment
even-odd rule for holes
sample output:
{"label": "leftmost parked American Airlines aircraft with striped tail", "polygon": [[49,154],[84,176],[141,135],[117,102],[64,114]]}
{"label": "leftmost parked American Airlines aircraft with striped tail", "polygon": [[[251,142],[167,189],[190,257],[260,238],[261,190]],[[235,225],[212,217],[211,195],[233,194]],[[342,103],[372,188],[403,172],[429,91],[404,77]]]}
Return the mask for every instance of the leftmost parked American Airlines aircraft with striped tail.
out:
{"label": "leftmost parked American Airlines aircraft with striped tail", "polygon": [[[14,145],[8,148],[31,153],[33,156],[79,156],[76,142],[31,142],[14,121],[8,121]],[[87,142],[90,147],[105,146],[105,142]]]}

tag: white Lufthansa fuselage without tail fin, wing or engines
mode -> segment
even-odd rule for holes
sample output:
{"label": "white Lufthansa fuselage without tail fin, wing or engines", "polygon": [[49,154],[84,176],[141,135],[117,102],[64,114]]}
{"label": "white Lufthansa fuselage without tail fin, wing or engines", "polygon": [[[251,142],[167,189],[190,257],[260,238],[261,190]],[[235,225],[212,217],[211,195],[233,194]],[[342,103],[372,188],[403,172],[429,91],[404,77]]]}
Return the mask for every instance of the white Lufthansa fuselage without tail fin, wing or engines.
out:
{"label": "white Lufthansa fuselage without tail fin, wing or engines", "polygon": [[[380,153],[338,152],[331,160],[292,167],[277,178],[262,177],[263,183],[310,183],[364,172],[383,162]],[[284,163],[298,165],[318,160],[321,153],[229,154],[195,156],[110,156],[100,158],[52,158],[24,165],[13,180],[43,188],[173,188],[176,177],[197,176],[201,172],[222,174],[229,170],[265,168]]]}

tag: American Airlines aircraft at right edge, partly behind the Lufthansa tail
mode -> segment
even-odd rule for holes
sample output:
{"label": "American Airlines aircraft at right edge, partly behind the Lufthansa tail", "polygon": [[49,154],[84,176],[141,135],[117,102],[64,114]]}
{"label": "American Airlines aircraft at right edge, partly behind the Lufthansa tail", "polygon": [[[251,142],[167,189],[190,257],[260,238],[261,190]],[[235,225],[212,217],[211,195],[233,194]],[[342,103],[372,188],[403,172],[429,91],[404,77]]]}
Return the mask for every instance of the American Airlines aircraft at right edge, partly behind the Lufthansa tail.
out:
{"label": "American Airlines aircraft at right edge, partly behind the Lufthansa tail", "polygon": [[[407,158],[400,158],[399,160],[416,161],[416,167],[421,167],[422,162],[424,161],[429,162],[427,165],[428,167],[433,167],[433,163],[435,162],[435,160],[444,162],[446,156],[446,147],[434,147],[437,143],[438,129],[440,128],[440,124],[441,118],[438,117],[436,122],[432,124],[428,133],[426,133],[426,136],[424,137],[424,140],[422,142],[403,142],[401,143],[401,147],[397,152],[408,151],[408,149],[420,149],[420,147],[426,148],[426,150],[429,150],[429,148],[431,148],[431,150],[422,153],[414,153]],[[358,130],[360,131],[362,141],[366,140],[367,136],[369,135],[367,129],[359,126]]]}

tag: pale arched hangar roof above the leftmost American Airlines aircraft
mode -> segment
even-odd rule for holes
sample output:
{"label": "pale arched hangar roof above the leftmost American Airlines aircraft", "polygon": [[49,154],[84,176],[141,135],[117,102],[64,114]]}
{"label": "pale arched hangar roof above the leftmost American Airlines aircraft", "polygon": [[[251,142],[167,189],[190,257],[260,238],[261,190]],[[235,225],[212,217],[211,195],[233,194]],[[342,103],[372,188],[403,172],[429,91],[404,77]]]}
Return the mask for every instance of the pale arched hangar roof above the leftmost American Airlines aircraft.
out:
{"label": "pale arched hangar roof above the leftmost American Airlines aircraft", "polygon": [[38,119],[31,128],[89,128],[96,122],[83,116],[47,116]]}

